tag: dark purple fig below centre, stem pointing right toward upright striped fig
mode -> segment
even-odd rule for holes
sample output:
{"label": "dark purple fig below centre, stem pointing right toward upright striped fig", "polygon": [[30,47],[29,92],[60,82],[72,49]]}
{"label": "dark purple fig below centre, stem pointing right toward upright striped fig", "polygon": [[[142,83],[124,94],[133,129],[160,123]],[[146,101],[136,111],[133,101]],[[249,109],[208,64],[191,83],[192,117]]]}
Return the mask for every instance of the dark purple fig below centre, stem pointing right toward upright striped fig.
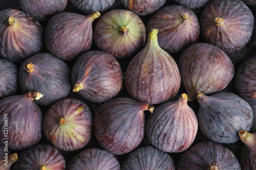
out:
{"label": "dark purple fig below centre, stem pointing right toward upright striped fig", "polygon": [[93,123],[101,147],[115,155],[123,155],[137,148],[144,137],[144,110],[153,112],[154,106],[126,97],[101,105]]}

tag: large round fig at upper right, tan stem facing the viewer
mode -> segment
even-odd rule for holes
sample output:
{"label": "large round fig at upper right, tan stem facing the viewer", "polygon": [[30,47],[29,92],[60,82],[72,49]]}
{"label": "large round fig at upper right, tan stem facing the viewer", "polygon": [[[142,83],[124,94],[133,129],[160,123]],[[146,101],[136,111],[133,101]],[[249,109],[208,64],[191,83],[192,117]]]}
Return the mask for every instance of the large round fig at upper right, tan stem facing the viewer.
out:
{"label": "large round fig at upper right, tan stem facing the viewer", "polygon": [[240,50],[251,38],[254,17],[240,0],[211,1],[200,16],[203,39],[225,53]]}

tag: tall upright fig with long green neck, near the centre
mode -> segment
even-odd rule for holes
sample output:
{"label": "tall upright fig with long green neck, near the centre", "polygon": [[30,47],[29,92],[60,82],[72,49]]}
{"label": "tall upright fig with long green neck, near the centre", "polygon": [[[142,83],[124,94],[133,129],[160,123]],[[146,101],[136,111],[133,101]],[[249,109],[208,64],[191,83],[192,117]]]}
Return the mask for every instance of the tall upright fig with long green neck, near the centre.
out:
{"label": "tall upright fig with long green neck, near the centre", "polygon": [[145,47],[125,72],[125,87],[137,101],[159,104],[173,98],[181,84],[176,61],[158,44],[158,29],[148,34]]}

